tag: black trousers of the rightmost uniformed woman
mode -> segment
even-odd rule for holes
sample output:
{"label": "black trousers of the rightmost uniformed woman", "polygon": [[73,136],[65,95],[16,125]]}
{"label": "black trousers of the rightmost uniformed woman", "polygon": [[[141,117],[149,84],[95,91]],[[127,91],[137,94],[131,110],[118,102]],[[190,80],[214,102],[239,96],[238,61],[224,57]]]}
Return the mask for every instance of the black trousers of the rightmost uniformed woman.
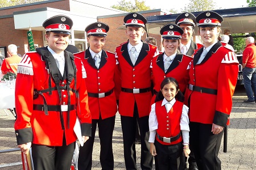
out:
{"label": "black trousers of the rightmost uniformed woman", "polygon": [[220,170],[218,151],[224,130],[216,135],[212,133],[212,124],[197,122],[189,122],[189,128],[190,147],[194,151],[197,167],[200,170]]}

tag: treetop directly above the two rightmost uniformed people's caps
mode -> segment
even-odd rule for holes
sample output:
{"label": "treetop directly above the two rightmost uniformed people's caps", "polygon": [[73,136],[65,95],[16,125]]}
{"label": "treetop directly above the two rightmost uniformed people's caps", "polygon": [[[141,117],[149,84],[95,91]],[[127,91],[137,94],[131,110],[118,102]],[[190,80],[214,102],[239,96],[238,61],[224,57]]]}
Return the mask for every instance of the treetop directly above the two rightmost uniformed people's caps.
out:
{"label": "treetop directly above the two rightmost uniformed people's caps", "polygon": [[181,10],[182,12],[208,11],[213,10],[214,6],[213,0],[190,0],[188,5]]}

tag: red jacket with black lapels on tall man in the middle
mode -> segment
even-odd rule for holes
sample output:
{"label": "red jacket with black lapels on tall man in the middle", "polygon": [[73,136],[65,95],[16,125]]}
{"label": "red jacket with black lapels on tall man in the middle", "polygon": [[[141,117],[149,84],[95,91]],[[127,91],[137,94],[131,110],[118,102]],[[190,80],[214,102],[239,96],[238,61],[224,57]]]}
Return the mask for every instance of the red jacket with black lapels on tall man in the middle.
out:
{"label": "red jacket with black lapels on tall man in the middle", "polygon": [[[127,44],[122,44],[115,49],[121,72],[121,87],[123,88],[150,88],[151,86],[151,59],[158,54],[157,46],[143,43],[138,59],[133,66]],[[134,103],[138,106],[139,117],[148,116],[150,113],[151,91],[140,94],[120,92],[118,111],[122,116],[133,117]]]}

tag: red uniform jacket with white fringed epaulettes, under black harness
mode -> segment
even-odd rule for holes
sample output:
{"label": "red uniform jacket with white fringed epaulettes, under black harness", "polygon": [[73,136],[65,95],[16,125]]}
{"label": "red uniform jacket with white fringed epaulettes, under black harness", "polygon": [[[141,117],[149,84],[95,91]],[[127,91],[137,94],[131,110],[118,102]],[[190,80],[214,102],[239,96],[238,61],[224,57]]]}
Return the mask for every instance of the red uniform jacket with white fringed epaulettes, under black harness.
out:
{"label": "red uniform jacket with white fringed epaulettes, under black harness", "polygon": [[[65,52],[67,56],[67,52]],[[67,62],[66,62],[67,63]],[[35,111],[34,104],[44,104],[43,96],[47,105],[67,105],[68,92],[61,90],[61,101],[57,90],[52,91],[52,95],[44,93],[33,99],[34,90],[48,89],[48,78],[50,74],[46,69],[46,62],[42,60],[39,53],[29,52],[24,55],[18,66],[18,75],[15,86],[15,107],[17,112],[17,120],[14,124],[18,145],[32,142],[38,145],[62,146],[63,135],[67,145],[75,142],[77,137],[73,130],[76,118],[79,117],[81,122],[82,135],[91,134],[91,115],[88,107],[88,94],[85,86],[85,69],[79,58],[75,58],[77,69],[76,89],[79,92],[79,101],[76,94],[70,91],[71,105],[76,105],[76,109],[70,111],[69,128],[68,128],[68,112],[63,114],[64,129],[61,127],[60,112],[48,111],[48,115],[44,111]],[[72,67],[72,66],[71,66]],[[66,70],[66,69],[65,69]],[[67,71],[67,70],[66,70]],[[67,83],[66,79],[60,83]],[[55,83],[51,78],[51,86],[54,88]],[[71,88],[75,88],[74,79],[70,84]]]}

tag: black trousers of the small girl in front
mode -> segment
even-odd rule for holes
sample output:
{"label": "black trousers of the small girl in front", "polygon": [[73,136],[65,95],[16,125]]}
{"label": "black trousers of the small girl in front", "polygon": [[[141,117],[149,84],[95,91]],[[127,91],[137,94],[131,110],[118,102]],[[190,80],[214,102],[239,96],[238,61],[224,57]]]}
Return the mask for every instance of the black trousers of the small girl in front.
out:
{"label": "black trousers of the small girl in front", "polygon": [[162,145],[155,140],[156,159],[158,160],[158,169],[177,170],[179,168],[179,158],[183,152],[182,142],[175,145]]}

